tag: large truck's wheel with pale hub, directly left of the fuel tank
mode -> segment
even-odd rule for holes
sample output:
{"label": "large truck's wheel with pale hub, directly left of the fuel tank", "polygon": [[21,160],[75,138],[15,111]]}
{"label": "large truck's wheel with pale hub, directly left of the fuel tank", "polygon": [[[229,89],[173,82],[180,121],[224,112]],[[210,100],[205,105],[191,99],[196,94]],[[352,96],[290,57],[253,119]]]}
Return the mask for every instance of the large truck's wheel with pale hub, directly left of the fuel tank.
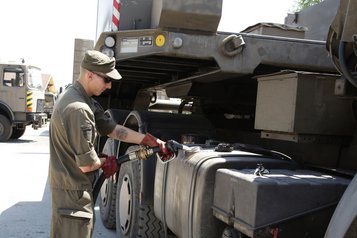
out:
{"label": "large truck's wheel with pale hub, directly left of the fuel tank", "polygon": [[[127,151],[135,148],[137,146],[131,146]],[[120,166],[116,199],[117,237],[165,237],[153,206],[140,203],[140,164],[139,160],[134,160]]]}

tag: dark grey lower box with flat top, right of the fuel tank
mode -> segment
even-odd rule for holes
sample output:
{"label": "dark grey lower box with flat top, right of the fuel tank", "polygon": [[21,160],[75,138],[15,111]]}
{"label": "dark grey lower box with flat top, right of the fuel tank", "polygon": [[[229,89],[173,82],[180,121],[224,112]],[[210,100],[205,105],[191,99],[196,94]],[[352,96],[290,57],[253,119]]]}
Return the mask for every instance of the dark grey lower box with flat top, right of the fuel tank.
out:
{"label": "dark grey lower box with flat top, right of the fuel tank", "polygon": [[[308,170],[219,169],[213,210],[220,220],[253,237],[255,230],[337,204],[350,180]],[[225,186],[222,186],[225,184]]]}

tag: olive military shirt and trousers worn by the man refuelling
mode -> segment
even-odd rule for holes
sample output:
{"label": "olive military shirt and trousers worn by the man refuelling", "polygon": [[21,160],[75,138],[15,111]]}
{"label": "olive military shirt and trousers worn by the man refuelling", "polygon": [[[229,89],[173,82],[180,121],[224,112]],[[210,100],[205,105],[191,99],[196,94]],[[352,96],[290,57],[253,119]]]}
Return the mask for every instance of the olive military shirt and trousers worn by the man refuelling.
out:
{"label": "olive military shirt and trousers worn by the man refuelling", "polygon": [[49,180],[52,191],[52,238],[91,237],[95,172],[79,167],[98,160],[97,131],[107,135],[116,123],[76,82],[56,102],[50,123]]}

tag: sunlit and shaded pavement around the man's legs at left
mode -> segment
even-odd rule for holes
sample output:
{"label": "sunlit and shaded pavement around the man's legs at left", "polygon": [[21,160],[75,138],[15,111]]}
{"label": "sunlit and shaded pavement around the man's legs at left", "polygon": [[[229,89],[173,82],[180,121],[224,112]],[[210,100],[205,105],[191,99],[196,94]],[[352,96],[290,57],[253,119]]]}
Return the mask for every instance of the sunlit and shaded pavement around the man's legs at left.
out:
{"label": "sunlit and shaded pavement around the man's legs at left", "polygon": [[[18,140],[0,143],[0,238],[48,238],[51,193],[47,173],[48,126],[27,127]],[[114,238],[96,209],[93,238]]]}

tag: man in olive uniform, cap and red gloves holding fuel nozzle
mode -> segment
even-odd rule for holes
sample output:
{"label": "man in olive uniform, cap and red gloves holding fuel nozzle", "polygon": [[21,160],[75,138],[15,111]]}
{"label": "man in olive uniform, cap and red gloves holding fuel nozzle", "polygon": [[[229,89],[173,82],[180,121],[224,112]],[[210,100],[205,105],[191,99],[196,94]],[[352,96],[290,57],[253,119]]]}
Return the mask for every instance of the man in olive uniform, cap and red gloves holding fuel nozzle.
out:
{"label": "man in olive uniform, cap and red gloves holding fuel nozzle", "polygon": [[164,155],[170,153],[165,143],[151,134],[118,125],[91,97],[110,89],[112,80],[119,79],[115,59],[99,51],[87,51],[79,79],[56,102],[49,130],[52,238],[92,237],[96,170],[102,168],[110,177],[119,169],[114,157],[97,155],[97,132],[125,142],[159,146]]}

